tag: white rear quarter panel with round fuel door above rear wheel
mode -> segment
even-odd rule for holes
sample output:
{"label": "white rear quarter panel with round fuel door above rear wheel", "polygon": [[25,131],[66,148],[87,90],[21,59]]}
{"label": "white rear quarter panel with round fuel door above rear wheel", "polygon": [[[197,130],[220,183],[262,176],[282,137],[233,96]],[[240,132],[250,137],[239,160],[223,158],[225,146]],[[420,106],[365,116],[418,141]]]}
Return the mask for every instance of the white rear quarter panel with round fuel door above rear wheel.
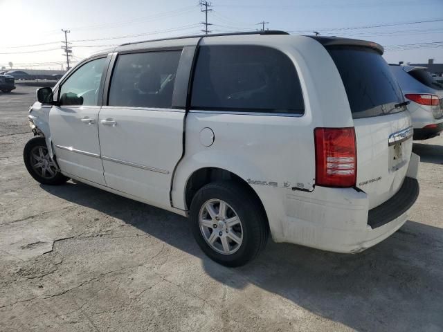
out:
{"label": "white rear quarter panel with round fuel door above rear wheel", "polygon": [[[271,234],[280,237],[286,215],[286,195],[314,190],[314,135],[311,118],[190,111],[186,118],[186,154],[172,187],[175,208],[187,210],[185,188],[197,169],[217,167],[249,183],[260,197]],[[213,144],[202,129],[213,131]],[[204,131],[203,131],[204,132]]]}

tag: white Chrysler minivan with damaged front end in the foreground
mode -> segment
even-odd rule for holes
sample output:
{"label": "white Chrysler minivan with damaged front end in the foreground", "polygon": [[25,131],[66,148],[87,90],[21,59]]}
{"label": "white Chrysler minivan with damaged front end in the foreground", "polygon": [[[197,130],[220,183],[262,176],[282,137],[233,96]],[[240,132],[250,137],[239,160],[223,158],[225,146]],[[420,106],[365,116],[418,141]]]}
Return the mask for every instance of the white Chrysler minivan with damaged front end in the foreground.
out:
{"label": "white Chrysler minivan with damaged front end in the foreground", "polygon": [[31,176],[73,178],[190,217],[220,264],[276,242],[359,252],[403,225],[419,157],[372,42],[282,32],[123,44],[29,112]]}

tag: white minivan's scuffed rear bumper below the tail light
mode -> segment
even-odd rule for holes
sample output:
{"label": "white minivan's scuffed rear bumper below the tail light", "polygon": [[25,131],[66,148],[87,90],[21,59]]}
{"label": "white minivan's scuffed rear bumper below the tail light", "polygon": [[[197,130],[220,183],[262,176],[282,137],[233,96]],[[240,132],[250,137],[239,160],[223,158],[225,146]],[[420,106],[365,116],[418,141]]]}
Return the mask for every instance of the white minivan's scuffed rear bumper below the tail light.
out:
{"label": "white minivan's scuffed rear bumper below the tail light", "polygon": [[315,199],[289,194],[282,232],[273,234],[274,241],[342,253],[374,246],[408,220],[419,193],[418,163],[419,157],[413,154],[400,190],[372,210],[368,194],[351,188],[316,187]]}

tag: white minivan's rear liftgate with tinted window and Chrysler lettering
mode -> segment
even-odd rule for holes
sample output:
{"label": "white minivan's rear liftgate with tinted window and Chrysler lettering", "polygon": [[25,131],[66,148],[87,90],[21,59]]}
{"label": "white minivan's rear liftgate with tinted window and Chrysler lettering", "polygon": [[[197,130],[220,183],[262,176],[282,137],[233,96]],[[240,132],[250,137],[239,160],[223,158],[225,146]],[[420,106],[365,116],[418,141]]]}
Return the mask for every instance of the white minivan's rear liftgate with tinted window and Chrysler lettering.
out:
{"label": "white minivan's rear liftgate with tinted window and Chrysler lettering", "polygon": [[369,208],[387,201],[403,184],[412,151],[411,121],[397,80],[374,43],[325,45],[350,103],[357,147],[356,186]]}

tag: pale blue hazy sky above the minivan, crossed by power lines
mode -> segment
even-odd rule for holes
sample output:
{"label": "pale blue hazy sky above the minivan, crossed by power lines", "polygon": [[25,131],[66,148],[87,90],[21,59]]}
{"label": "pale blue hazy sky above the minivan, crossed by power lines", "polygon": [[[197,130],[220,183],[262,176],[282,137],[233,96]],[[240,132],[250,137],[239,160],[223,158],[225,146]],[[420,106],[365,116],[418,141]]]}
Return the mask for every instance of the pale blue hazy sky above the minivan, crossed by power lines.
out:
{"label": "pale blue hazy sky above the minivan, crossed by power lines", "polygon": [[[366,39],[390,63],[443,63],[443,0],[213,0],[213,33],[260,28]],[[204,28],[198,0],[0,0],[0,68],[66,68],[108,46],[195,35]],[[417,23],[421,22],[421,23]]]}

